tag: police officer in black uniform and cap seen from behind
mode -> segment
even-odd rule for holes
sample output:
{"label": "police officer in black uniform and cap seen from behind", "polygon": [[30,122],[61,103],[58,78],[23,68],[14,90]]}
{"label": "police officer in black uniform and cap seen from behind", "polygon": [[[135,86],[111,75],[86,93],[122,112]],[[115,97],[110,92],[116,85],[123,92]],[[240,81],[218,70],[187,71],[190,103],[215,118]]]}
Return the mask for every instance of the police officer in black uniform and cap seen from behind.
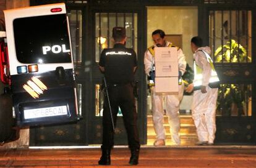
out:
{"label": "police officer in black uniform and cap seen from behind", "polygon": [[[117,113],[120,107],[131,151],[129,164],[136,165],[139,160],[140,143],[132,83],[134,82],[134,73],[137,68],[137,57],[133,49],[128,49],[124,46],[127,39],[125,28],[114,27],[113,38],[115,43],[113,49],[104,49],[101,52],[99,63],[100,70],[105,75],[109,102],[108,97],[105,96],[102,156],[98,164],[111,164],[110,152],[114,145],[113,125],[116,125]],[[111,112],[114,124],[112,123]]]}

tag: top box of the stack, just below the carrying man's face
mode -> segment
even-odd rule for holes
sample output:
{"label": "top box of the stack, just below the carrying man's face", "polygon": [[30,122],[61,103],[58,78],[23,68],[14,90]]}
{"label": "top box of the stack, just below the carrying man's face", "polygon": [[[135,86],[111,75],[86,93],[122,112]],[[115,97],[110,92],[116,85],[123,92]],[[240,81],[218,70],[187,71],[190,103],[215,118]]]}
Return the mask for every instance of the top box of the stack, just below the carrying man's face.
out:
{"label": "top box of the stack, just below the carrying man's face", "polygon": [[178,62],[176,47],[155,47],[155,62]]}

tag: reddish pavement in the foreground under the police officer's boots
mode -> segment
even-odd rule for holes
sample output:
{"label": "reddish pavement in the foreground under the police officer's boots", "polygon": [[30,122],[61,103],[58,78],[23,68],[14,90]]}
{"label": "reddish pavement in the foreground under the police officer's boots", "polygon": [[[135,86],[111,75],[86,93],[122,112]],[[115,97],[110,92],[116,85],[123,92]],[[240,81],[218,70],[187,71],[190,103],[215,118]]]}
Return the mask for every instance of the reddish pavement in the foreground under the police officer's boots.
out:
{"label": "reddish pavement in the foreground under the police officer's boots", "polygon": [[114,148],[111,166],[98,166],[100,148],[0,150],[0,167],[256,167],[255,146],[143,146],[139,165],[129,166],[127,148]]}

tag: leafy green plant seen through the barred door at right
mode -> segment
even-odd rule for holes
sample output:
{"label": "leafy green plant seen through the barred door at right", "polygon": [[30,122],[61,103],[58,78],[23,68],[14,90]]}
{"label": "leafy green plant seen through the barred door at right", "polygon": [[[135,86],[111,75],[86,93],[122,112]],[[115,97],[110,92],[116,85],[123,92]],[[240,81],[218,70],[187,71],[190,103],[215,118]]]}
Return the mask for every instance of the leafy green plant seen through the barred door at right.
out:
{"label": "leafy green plant seen through the barred door at right", "polygon": [[[215,50],[215,62],[237,63],[251,62],[246,49],[234,39]],[[242,116],[247,113],[247,100],[251,96],[251,88],[244,84],[221,84],[218,92],[217,111],[223,116]],[[246,110],[246,111],[245,111]]]}

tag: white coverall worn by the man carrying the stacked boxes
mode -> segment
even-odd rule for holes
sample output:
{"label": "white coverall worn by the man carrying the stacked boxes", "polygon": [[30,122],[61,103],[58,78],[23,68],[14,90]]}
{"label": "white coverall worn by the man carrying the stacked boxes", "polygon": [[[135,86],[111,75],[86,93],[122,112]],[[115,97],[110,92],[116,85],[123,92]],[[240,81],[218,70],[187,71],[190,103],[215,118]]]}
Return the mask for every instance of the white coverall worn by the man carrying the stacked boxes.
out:
{"label": "white coverall worn by the man carrying the stacked boxes", "polygon": [[[166,41],[166,47],[169,46],[171,42]],[[154,45],[154,47],[157,47]],[[175,47],[175,46],[172,46]],[[182,52],[182,49],[177,47],[177,55],[179,62],[179,71],[182,74],[186,71],[186,60],[185,56]],[[153,65],[155,63],[154,56],[147,49],[144,55],[144,65],[145,65],[145,73],[149,76],[150,71],[153,71]],[[172,141],[177,145],[181,144],[181,140],[179,138],[179,129],[180,129],[180,121],[179,121],[179,104],[182,100],[184,92],[184,84],[179,85],[179,94],[178,95],[156,95],[155,87],[151,87],[151,101],[152,101],[152,112],[153,112],[153,126],[156,132],[156,140],[165,140],[165,130],[163,126],[163,98],[166,103],[166,114],[168,116],[168,121],[170,125],[170,132]]]}

